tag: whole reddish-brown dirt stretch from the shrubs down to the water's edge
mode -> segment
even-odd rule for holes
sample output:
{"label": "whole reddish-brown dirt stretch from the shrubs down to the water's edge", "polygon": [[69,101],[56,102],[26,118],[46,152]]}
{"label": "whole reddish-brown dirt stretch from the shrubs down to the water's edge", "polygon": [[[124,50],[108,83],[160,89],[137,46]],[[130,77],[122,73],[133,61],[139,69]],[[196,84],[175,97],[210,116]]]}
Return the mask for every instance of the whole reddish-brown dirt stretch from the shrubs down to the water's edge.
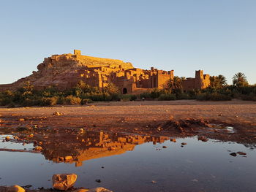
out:
{"label": "whole reddish-brown dirt stretch from the shrubs down to the water's edge", "polygon": [[[54,112],[60,115],[53,115]],[[228,131],[227,126],[235,131]],[[200,136],[256,147],[256,102],[119,101],[86,106],[0,108],[0,134],[13,134],[18,128],[37,135],[33,137],[37,143],[41,140],[36,138],[44,135],[46,129],[83,128],[167,137]]]}

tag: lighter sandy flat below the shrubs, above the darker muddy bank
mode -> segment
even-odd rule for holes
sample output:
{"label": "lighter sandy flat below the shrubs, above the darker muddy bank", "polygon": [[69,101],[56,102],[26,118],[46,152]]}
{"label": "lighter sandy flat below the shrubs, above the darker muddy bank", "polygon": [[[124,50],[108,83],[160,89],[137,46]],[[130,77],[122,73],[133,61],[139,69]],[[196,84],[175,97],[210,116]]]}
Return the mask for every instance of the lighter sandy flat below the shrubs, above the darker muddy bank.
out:
{"label": "lighter sandy flat below the shrubs, above the darker muddy bank", "polygon": [[[53,112],[61,116],[53,116]],[[1,128],[50,126],[134,131],[170,118],[219,120],[234,126],[256,127],[253,101],[127,101],[86,106],[0,108]],[[19,121],[24,118],[24,121]]]}

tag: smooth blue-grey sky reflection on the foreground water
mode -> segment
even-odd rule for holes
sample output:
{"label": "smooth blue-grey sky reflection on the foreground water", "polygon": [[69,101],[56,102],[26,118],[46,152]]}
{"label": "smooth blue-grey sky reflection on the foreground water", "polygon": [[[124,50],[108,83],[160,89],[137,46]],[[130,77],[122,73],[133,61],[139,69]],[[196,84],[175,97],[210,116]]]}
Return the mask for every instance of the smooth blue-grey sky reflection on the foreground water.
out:
{"label": "smooth blue-grey sky reflection on the foreground water", "polygon": [[[187,145],[181,147],[181,142]],[[238,151],[247,157],[229,155]],[[75,173],[77,187],[103,186],[113,191],[256,191],[255,159],[255,150],[244,145],[197,138],[144,143],[121,155],[84,161],[79,167],[46,161],[41,154],[0,152],[0,185],[50,188],[53,174]]]}

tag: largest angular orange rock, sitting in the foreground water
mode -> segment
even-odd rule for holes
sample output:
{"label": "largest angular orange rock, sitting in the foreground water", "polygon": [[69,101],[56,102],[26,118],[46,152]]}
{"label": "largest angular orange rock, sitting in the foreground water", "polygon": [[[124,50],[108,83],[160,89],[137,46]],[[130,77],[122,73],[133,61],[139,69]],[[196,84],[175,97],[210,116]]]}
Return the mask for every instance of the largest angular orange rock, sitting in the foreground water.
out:
{"label": "largest angular orange rock, sitting in the foreground water", "polygon": [[75,184],[77,178],[76,174],[53,174],[53,188],[67,191]]}

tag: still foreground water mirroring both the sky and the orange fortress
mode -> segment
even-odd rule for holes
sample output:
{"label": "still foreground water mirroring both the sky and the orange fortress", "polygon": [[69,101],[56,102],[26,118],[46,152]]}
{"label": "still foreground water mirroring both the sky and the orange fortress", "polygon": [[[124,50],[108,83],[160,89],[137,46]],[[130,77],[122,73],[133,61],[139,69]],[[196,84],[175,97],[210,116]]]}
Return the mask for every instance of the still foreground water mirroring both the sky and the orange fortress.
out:
{"label": "still foreground water mirroring both the sky and the orange fortress", "polygon": [[[53,174],[75,173],[75,187],[118,192],[256,191],[255,148],[236,142],[86,131],[45,135],[41,154],[27,153],[33,144],[2,142],[7,136],[0,135],[1,149],[27,151],[0,151],[0,185],[51,188]],[[72,161],[64,161],[66,155]]]}

